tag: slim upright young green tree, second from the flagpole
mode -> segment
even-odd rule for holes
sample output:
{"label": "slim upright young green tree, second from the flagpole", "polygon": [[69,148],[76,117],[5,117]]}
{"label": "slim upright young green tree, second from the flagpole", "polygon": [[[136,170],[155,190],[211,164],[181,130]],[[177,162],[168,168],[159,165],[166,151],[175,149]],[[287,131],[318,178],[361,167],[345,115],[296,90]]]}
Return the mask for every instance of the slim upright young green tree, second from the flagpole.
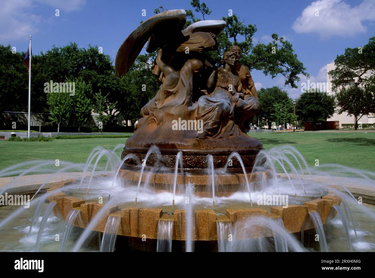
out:
{"label": "slim upright young green tree, second from the flagpole", "polygon": [[75,81],[72,114],[74,114],[75,122],[78,124],[78,132],[81,131],[81,126],[92,119],[93,103],[90,96],[92,96],[91,84],[86,84],[82,79],[77,79]]}

